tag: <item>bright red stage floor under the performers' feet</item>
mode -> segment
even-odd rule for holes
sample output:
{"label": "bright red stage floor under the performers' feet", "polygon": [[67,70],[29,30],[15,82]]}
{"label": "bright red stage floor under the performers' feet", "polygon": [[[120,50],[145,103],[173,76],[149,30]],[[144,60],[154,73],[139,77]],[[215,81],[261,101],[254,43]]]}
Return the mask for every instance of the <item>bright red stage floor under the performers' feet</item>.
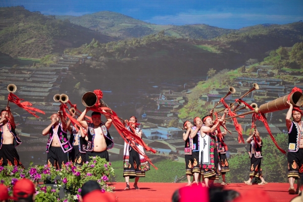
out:
{"label": "bright red stage floor under the performers' feet", "polygon": [[[174,191],[185,186],[186,183],[139,182],[139,190],[133,188],[133,182],[130,182],[130,190],[124,190],[125,183],[123,182],[114,182],[109,185],[115,187],[114,195],[117,197],[119,202],[171,202]],[[220,184],[215,185],[221,186]],[[262,189],[268,193],[272,199],[272,202],[287,202],[297,196],[288,194],[288,183],[268,183],[266,185],[245,185],[244,183],[232,183],[224,186],[224,188],[236,190],[240,194],[251,188]],[[262,198],[256,199],[262,201]]]}

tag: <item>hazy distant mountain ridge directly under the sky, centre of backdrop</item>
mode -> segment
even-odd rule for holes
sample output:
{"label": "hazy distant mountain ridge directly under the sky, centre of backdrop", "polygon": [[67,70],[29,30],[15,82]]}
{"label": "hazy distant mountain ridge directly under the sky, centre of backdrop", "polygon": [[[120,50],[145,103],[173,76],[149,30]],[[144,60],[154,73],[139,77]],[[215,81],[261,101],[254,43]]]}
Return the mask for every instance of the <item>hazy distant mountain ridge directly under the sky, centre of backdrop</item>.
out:
{"label": "hazy distant mountain ridge directly under the sky, centre of backdrop", "polygon": [[156,25],[111,11],[101,11],[83,16],[56,16],[56,19],[69,20],[76,25],[87,27],[109,36],[119,37],[120,39],[157,34],[162,30],[167,35],[177,38],[211,39],[235,31],[205,24],[184,26]]}

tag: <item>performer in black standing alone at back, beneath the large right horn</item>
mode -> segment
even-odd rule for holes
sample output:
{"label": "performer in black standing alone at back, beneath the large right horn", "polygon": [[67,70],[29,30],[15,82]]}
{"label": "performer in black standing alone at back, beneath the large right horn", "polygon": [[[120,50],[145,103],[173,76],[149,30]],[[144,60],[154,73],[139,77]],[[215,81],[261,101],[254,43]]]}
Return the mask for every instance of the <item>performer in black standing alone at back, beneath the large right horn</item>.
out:
{"label": "performer in black standing alone at back, beneath the large right horn", "polygon": [[249,158],[250,158],[250,171],[249,171],[249,179],[247,181],[243,181],[247,185],[252,185],[251,180],[254,177],[258,177],[261,179],[261,182],[258,185],[267,184],[267,182],[263,178],[262,168],[261,168],[261,159],[262,156],[262,138],[260,133],[257,130],[257,126],[254,126],[254,132],[250,135],[246,142],[250,143],[249,148]]}

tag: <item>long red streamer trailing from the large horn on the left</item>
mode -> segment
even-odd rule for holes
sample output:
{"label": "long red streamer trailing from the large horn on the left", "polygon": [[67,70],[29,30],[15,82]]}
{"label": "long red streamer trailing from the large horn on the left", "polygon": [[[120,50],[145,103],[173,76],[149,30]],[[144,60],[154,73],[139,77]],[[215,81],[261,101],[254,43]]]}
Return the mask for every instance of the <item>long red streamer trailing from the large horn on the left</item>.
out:
{"label": "long red streamer trailing from the large horn on the left", "polygon": [[[119,117],[117,116],[117,114],[113,110],[111,110],[110,108],[107,108],[107,107],[97,107],[96,105],[93,106],[93,107],[90,107],[89,109],[93,112],[99,112],[99,113],[106,114],[106,115],[110,116],[111,119],[113,120],[113,122],[112,122],[113,125],[115,126],[115,128],[117,129],[117,131],[121,135],[121,137],[124,139],[124,141],[126,143],[131,142],[131,145],[133,145],[133,149],[135,151],[137,151],[137,153],[142,155],[148,161],[148,163],[151,166],[153,166],[156,170],[158,170],[158,168],[153,163],[151,163],[151,160],[145,154],[143,154],[138,149],[138,147],[135,146],[135,143],[140,144],[141,146],[144,147],[144,149],[146,151],[151,151],[154,154],[156,153],[156,150],[147,146],[140,137],[138,137],[137,135],[135,135],[131,131],[127,130],[127,128],[121,123]],[[110,111],[112,111],[112,114],[107,113],[107,112],[103,112],[103,110],[110,110]]]}

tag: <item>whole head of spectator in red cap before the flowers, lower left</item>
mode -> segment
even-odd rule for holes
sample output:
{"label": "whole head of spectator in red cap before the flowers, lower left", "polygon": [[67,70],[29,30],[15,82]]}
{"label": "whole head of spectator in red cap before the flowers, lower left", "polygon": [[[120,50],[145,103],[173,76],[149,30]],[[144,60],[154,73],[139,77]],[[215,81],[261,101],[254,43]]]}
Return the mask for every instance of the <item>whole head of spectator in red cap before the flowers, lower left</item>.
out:
{"label": "whole head of spectator in red cap before the flowers, lower left", "polygon": [[29,179],[18,180],[13,187],[13,199],[18,202],[34,201],[36,193],[35,185]]}

